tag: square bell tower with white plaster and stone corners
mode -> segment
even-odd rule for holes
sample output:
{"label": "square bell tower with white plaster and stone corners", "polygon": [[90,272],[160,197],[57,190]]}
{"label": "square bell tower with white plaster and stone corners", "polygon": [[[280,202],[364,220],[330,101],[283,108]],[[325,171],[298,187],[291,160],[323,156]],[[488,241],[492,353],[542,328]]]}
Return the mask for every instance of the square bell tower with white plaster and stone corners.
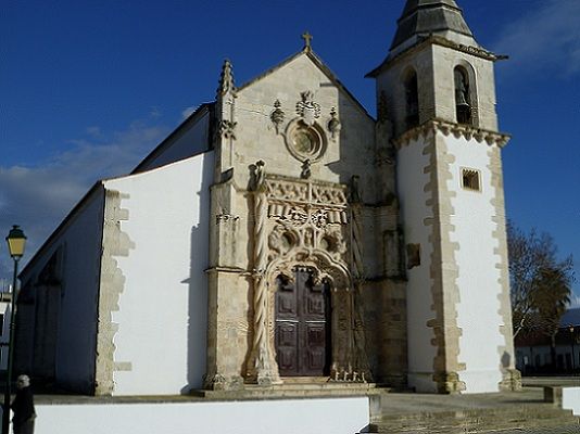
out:
{"label": "square bell tower with white plaster and stone corners", "polygon": [[408,374],[420,392],[519,386],[494,62],[454,0],[407,0],[368,76],[392,124],[407,268]]}

